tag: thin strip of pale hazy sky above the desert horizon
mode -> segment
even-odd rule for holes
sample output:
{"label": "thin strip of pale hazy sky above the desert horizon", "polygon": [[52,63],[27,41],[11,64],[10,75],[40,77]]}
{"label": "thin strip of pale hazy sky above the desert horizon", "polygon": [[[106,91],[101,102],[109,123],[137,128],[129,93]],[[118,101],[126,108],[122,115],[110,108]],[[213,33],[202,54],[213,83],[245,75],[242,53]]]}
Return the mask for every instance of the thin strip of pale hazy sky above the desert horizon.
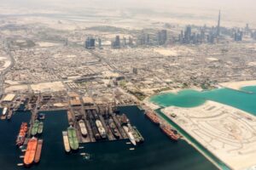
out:
{"label": "thin strip of pale hazy sky above the desert horizon", "polygon": [[168,8],[169,6],[256,9],[255,0],[0,0],[21,6],[100,6],[107,8]]}

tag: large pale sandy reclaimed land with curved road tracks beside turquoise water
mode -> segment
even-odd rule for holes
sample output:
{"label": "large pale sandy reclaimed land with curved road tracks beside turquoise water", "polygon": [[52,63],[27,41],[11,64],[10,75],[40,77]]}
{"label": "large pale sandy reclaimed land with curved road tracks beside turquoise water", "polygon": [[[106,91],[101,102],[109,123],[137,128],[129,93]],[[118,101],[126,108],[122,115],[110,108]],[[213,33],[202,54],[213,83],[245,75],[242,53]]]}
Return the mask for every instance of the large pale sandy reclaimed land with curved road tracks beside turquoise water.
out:
{"label": "large pale sandy reclaimed land with curved road tracks beside turquoise water", "polygon": [[231,169],[256,165],[255,116],[213,101],[194,108],[171,106],[162,112]]}

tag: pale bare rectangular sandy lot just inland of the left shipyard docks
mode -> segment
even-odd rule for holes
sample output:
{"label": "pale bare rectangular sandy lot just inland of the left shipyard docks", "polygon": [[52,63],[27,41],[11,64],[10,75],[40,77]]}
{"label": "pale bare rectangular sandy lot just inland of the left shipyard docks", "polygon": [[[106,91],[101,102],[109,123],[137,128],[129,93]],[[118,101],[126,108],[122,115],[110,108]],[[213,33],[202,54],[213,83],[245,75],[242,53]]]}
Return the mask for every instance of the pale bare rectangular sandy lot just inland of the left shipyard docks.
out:
{"label": "pale bare rectangular sandy lot just inland of the left shipyard docks", "polygon": [[35,92],[57,92],[65,90],[66,88],[62,84],[62,82],[43,82],[38,84],[31,85],[32,90]]}

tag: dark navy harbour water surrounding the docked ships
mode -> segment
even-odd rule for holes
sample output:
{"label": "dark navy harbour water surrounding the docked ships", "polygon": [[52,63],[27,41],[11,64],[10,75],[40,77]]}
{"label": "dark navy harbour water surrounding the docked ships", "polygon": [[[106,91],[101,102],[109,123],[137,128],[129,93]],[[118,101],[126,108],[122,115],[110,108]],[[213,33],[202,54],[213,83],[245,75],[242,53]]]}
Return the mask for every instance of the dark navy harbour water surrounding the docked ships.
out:
{"label": "dark navy harbour water surrounding the docked ships", "polygon": [[[31,169],[37,170],[215,170],[210,161],[185,141],[177,143],[168,139],[160,129],[143,116],[134,106],[119,108],[126,113],[131,123],[143,134],[144,144],[129,150],[127,140],[82,144],[79,153],[67,155],[64,152],[61,131],[67,128],[65,111],[48,112],[44,120],[44,147],[41,161]],[[0,169],[25,169],[17,167],[22,162],[22,153],[15,147],[15,138],[22,121],[28,122],[29,113],[18,113],[10,122],[0,122]],[[90,153],[90,161],[79,154]]]}

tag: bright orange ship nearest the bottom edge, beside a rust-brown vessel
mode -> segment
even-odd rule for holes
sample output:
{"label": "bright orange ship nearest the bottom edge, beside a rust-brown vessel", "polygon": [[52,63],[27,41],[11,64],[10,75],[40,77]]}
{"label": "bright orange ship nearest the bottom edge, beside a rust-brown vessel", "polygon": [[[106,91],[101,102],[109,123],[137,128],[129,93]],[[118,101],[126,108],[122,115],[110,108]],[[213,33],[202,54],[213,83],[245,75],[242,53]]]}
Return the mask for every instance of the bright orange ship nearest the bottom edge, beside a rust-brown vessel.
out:
{"label": "bright orange ship nearest the bottom edge, beside a rust-brown vessel", "polygon": [[32,162],[35,159],[36,156],[36,150],[38,147],[38,139],[36,138],[32,138],[29,139],[28,143],[27,143],[27,147],[26,147],[26,153],[24,156],[24,165],[26,167],[30,166],[32,164]]}

